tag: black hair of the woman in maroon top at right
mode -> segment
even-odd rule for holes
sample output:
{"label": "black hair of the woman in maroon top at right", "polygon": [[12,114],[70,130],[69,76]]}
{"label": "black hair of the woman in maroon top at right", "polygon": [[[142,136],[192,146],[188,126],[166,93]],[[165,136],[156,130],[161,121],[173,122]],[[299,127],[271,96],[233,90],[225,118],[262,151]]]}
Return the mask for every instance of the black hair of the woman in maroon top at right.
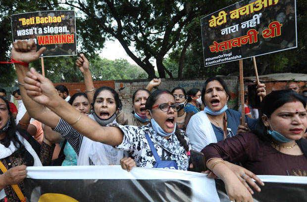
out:
{"label": "black hair of the woman in maroon top at right", "polygon": [[264,126],[261,116],[265,114],[269,118],[277,108],[281,107],[285,103],[293,101],[302,102],[304,108],[306,108],[306,99],[292,90],[273,91],[265,96],[261,101],[261,110],[259,113],[256,130],[252,132],[255,133],[259,139],[271,142],[272,138],[270,135],[267,135],[266,126]]}

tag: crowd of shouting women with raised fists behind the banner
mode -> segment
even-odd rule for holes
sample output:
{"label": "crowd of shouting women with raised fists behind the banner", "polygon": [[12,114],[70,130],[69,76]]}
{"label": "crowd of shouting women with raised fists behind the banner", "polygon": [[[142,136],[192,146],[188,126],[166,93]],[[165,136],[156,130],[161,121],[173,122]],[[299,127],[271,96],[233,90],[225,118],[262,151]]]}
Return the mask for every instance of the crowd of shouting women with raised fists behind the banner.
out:
{"label": "crowd of shouting women with raised fists behind the banner", "polygon": [[[33,40],[13,43],[11,56],[28,119],[43,124],[44,139],[40,145],[17,127],[8,102],[0,97],[2,201],[19,201],[15,193],[24,189],[26,166],[54,162],[55,143],[61,143],[60,153],[65,154],[62,165],[120,164],[128,171],[134,166],[193,170],[190,151],[203,152],[204,172],[221,178],[236,202],[253,201],[250,186],[260,191],[258,185],[263,185],[258,174],[307,175],[306,97],[287,90],[266,95],[259,84],[259,118],[245,117],[241,124],[241,113],[227,107],[231,96],[221,78],[209,78],[202,91],[187,93],[181,87],[151,93],[161,82],[153,79],[147,89],[133,94],[131,113],[120,110],[113,89],[94,88],[89,61],[81,54],[76,65],[87,94],[77,93],[67,102],[50,80],[28,67],[44,50],[37,50]],[[11,186],[15,184],[17,188]]]}

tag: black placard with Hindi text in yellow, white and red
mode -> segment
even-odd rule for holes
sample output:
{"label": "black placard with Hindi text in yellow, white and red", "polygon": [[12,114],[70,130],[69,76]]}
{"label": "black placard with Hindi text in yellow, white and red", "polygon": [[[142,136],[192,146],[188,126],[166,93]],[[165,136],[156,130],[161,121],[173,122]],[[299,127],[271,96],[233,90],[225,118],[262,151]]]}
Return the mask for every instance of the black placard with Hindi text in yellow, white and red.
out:
{"label": "black placard with Hindi text in yellow, white and red", "polygon": [[242,0],[201,24],[205,66],[297,47],[295,0]]}

